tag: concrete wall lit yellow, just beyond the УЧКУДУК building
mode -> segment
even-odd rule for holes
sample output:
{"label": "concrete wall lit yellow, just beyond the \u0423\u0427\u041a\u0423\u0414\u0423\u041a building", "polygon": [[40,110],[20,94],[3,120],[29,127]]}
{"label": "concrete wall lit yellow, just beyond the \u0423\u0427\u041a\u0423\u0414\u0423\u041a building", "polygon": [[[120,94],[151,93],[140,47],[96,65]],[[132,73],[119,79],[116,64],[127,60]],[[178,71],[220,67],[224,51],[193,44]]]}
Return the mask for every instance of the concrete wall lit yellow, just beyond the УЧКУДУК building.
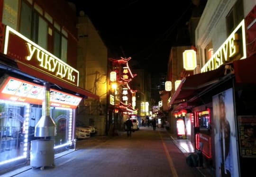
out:
{"label": "concrete wall lit yellow, just beyond the \u0423\u0427\u041a\u0423\u0414\u0423\u041a building", "polygon": [[[77,119],[86,125],[94,125],[99,133],[105,132],[107,106],[108,49],[93,26],[90,18],[78,18],[77,70],[80,73],[79,87],[98,95],[100,100],[84,99]],[[93,120],[93,121],[92,121]]]}

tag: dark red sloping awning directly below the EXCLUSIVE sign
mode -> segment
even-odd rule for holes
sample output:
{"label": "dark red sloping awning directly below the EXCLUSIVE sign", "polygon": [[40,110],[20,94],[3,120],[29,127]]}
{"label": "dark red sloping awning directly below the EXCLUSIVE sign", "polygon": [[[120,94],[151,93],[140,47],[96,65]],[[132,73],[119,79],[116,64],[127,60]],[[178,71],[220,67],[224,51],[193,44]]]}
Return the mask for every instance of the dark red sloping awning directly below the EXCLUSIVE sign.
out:
{"label": "dark red sloping awning directly below the EXCLUSIVE sign", "polygon": [[189,100],[197,93],[210,87],[210,85],[218,82],[225,73],[225,66],[221,66],[216,70],[203,72],[183,78],[174,95],[171,98],[170,104],[180,104]]}

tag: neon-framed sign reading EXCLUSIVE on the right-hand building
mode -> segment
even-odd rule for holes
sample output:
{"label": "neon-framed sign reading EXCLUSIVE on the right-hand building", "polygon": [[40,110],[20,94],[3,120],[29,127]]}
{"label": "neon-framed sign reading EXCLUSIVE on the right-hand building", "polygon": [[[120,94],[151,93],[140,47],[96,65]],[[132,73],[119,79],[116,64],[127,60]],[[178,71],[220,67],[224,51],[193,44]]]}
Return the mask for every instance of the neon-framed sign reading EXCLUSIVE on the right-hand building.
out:
{"label": "neon-framed sign reading EXCLUSIVE on the right-hand building", "polygon": [[201,68],[201,72],[212,71],[220,67],[220,65],[233,60],[241,60],[246,58],[246,36],[245,21],[236,27],[229,35],[228,39],[219,47],[216,53]]}

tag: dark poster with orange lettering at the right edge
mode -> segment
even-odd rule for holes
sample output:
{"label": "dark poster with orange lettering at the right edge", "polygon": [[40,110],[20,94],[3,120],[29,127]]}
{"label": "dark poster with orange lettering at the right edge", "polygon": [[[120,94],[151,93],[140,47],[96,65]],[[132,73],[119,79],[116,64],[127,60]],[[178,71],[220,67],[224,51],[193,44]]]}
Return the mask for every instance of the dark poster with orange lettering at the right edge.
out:
{"label": "dark poster with orange lettering at the right edge", "polygon": [[239,144],[242,157],[256,157],[256,116],[238,116]]}

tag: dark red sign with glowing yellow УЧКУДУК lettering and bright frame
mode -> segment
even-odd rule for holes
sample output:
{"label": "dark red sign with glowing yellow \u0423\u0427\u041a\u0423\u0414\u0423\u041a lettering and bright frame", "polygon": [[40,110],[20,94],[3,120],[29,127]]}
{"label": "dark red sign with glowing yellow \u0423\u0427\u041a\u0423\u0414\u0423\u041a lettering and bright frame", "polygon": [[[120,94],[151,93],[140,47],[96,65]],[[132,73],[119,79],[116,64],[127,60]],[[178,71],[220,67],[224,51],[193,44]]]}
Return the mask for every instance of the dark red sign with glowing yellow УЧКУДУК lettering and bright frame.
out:
{"label": "dark red sign with glowing yellow \u0423\u0427\u041a\u0423\u0414\u0423\u041a lettering and bright frame", "polygon": [[4,54],[37,71],[78,86],[79,71],[8,26],[6,27]]}

